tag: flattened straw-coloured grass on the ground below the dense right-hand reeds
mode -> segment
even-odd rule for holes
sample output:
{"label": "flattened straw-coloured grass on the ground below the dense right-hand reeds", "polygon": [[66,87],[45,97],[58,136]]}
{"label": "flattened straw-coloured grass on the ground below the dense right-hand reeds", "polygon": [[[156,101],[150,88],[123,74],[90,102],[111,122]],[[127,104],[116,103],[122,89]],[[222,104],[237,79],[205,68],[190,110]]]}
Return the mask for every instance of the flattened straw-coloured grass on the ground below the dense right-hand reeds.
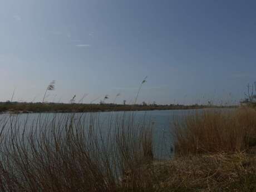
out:
{"label": "flattened straw-coloured grass on the ground below the dense right-hand reeds", "polygon": [[158,191],[256,191],[256,157],[243,152],[179,157],[153,167]]}

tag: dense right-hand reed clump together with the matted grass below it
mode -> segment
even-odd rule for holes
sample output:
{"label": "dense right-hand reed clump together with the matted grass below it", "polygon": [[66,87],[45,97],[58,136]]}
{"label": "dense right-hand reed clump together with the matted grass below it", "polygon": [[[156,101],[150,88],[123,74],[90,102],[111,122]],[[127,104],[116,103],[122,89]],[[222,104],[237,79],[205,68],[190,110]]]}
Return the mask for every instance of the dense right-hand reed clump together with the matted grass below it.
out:
{"label": "dense right-hand reed clump together with the matted grass below it", "polygon": [[175,159],[155,162],[159,191],[256,191],[256,111],[205,110],[175,122]]}

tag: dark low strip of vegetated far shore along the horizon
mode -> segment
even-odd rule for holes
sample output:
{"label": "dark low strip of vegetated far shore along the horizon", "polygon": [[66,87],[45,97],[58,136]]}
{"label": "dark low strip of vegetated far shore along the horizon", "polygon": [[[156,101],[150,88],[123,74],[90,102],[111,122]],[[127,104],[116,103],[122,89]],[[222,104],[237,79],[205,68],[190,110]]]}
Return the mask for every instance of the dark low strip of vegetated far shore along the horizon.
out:
{"label": "dark low strip of vegetated far shore along the horizon", "polygon": [[209,105],[118,105],[118,104],[42,104],[42,103],[0,103],[0,113],[69,113],[69,112],[111,112],[111,111],[155,111],[155,110],[196,110],[235,109],[238,106]]}

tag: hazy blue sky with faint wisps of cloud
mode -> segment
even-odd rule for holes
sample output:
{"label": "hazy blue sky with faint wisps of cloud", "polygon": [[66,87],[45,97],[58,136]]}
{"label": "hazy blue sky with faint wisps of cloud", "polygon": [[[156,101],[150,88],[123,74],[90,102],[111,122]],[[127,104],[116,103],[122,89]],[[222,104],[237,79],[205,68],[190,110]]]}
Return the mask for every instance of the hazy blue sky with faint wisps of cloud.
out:
{"label": "hazy blue sky with faint wisps of cloud", "polygon": [[[0,101],[234,104],[256,81],[255,1],[0,0]],[[99,99],[98,99],[99,98]]]}

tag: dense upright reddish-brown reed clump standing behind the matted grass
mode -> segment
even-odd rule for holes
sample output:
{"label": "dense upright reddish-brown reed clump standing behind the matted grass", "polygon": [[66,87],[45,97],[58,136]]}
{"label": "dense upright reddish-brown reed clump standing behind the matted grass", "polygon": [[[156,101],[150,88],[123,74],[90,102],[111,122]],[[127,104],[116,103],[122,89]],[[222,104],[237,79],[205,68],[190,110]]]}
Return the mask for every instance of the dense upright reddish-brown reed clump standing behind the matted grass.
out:
{"label": "dense upright reddish-brown reed clump standing behind the matted grass", "polygon": [[241,107],[196,112],[176,121],[173,133],[176,154],[243,151],[256,138],[256,111]]}

